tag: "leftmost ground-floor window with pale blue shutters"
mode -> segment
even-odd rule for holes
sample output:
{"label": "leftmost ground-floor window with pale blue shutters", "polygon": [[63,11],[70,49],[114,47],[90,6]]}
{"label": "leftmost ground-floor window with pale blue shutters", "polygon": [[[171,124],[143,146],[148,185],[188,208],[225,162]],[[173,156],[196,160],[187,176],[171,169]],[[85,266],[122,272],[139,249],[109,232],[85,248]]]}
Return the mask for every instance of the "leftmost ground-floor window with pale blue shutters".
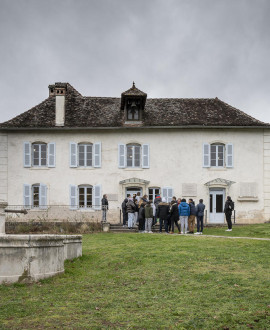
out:
{"label": "leftmost ground-floor window with pale blue shutters", "polygon": [[47,208],[47,186],[42,183],[23,185],[24,207],[30,208]]}

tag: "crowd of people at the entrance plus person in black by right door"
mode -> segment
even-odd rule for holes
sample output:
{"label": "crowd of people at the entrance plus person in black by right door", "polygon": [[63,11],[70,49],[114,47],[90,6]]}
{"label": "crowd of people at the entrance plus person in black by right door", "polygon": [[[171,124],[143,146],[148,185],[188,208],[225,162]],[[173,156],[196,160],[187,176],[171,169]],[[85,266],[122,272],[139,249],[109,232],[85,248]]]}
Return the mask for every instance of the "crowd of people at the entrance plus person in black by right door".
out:
{"label": "crowd of people at the entrance plus person in black by right door", "polygon": [[[192,198],[186,202],[185,198],[172,198],[170,203],[166,199],[156,196],[154,201],[149,201],[148,196],[140,196],[140,193],[133,196],[128,195],[122,203],[123,227],[128,226],[132,229],[136,225],[139,226],[139,232],[152,233],[152,226],[159,219],[159,232],[162,232],[164,227],[167,234],[174,234],[174,228],[178,229],[178,234],[194,234],[195,219],[197,218],[196,235],[203,233],[203,218],[205,205],[200,199],[195,205]],[[228,223],[227,231],[232,230],[232,211],[234,203],[231,197],[228,196],[224,213]]]}

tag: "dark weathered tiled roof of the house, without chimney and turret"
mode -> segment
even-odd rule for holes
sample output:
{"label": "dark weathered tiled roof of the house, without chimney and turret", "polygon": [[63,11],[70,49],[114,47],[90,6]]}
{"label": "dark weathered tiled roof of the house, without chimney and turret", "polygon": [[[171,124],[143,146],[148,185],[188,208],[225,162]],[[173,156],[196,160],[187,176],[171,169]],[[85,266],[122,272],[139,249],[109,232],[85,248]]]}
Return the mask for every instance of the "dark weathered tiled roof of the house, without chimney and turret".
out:
{"label": "dark weathered tiled roof of the house, without chimney and turret", "polygon": [[[67,84],[65,127],[125,127],[121,98],[84,97]],[[136,95],[146,97],[138,90]],[[132,89],[132,88],[131,88]],[[130,90],[131,90],[130,89]],[[130,90],[123,94],[128,95]],[[139,93],[139,94],[138,94]],[[141,94],[140,94],[141,93]],[[132,94],[134,95],[134,94]],[[143,120],[135,126],[268,126],[246,113],[215,99],[146,99]],[[134,125],[133,125],[134,126]],[[55,97],[6,121],[0,128],[55,127]]]}

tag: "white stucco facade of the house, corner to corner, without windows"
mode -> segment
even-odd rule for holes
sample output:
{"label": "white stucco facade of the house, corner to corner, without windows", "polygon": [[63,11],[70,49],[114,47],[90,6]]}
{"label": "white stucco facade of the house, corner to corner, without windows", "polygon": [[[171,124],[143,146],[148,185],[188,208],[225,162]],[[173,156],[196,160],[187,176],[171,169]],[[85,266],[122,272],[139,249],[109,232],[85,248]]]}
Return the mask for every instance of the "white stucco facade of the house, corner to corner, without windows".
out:
{"label": "white stucco facade of the house, corner to corner, without windows", "polygon": [[[54,142],[55,167],[24,167],[25,141],[31,144],[37,141],[46,144]],[[70,167],[70,142],[101,142],[101,167]],[[148,144],[149,168],[119,168],[119,143]],[[203,167],[204,143],[232,144],[233,167]],[[1,199],[6,200],[9,205],[24,204],[24,184],[46,185],[47,204],[67,207],[70,204],[70,185],[101,185],[101,194],[106,193],[109,197],[108,217],[111,221],[118,222],[119,210],[127,187],[141,187],[142,193],[147,195],[151,187],[170,187],[176,197],[192,197],[196,202],[202,198],[209,222],[210,191],[220,188],[224,189],[225,195],[230,195],[234,200],[238,223],[264,222],[270,218],[268,129],[14,130],[0,134],[0,152],[0,194]],[[131,178],[137,178],[141,182],[120,183]],[[219,178],[233,183],[228,185],[213,181]],[[211,181],[212,185],[205,185]],[[191,195],[188,195],[187,191],[189,186],[193,189]],[[243,197],[241,194],[243,195],[243,189],[247,186],[250,196]],[[81,214],[89,211],[73,212]]]}

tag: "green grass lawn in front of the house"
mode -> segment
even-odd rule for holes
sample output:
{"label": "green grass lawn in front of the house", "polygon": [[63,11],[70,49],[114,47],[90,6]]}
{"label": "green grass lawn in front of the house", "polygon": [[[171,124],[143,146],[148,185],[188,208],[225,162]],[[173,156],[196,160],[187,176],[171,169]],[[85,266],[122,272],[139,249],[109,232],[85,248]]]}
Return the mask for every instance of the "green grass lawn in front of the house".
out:
{"label": "green grass lawn in front of the house", "polygon": [[84,235],[65,268],[0,286],[0,329],[270,328],[270,241]]}

